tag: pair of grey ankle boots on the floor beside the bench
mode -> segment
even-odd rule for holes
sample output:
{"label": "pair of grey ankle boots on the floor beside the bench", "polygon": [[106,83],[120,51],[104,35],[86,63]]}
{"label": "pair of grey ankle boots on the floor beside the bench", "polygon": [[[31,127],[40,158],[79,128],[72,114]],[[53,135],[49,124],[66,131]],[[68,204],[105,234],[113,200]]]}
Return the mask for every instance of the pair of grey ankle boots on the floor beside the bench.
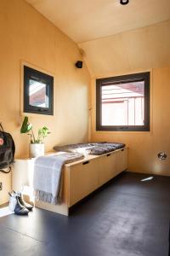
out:
{"label": "pair of grey ankle boots on the floor beside the bench", "polygon": [[17,215],[28,215],[28,212],[32,210],[32,206],[27,204],[20,192],[8,193],[10,196],[9,209]]}

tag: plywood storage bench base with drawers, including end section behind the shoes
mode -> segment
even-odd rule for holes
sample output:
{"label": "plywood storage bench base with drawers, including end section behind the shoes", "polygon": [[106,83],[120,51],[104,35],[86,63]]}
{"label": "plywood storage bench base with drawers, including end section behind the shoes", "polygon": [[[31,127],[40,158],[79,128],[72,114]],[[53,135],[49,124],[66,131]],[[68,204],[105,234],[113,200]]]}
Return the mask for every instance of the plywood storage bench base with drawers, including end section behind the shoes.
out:
{"label": "plywood storage bench base with drawers, including end section behind the shoes", "polygon": [[[15,160],[12,186],[32,186],[34,159]],[[50,205],[41,201],[36,206],[52,212],[68,215],[69,207],[82,200],[95,189],[127,169],[127,148],[109,154],[87,155],[84,159],[66,164],[63,170],[63,203]]]}

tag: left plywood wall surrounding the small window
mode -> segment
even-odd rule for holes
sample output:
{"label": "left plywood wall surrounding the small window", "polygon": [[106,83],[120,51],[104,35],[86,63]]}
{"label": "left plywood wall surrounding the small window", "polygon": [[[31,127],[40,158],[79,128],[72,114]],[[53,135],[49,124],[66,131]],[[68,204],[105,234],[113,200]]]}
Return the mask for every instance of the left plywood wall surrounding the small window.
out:
{"label": "left plywood wall surrounding the small window", "polygon": [[[54,74],[54,116],[30,118],[35,132],[43,125],[51,131],[46,151],[88,140],[89,75],[85,65],[75,67],[77,60],[82,60],[77,44],[28,3],[0,1],[0,122],[14,137],[16,157],[28,155],[29,143],[27,135],[20,135],[21,61]],[[1,179],[5,183],[0,174]],[[7,201],[0,193],[0,203]]]}

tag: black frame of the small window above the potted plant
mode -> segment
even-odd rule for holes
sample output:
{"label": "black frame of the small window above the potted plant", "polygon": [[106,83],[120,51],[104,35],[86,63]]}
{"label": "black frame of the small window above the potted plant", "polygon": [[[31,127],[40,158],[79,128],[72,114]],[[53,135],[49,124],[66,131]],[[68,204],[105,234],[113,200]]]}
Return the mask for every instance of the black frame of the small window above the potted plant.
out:
{"label": "black frame of the small window above the potted plant", "polygon": [[[47,84],[48,108],[31,106],[29,104],[29,85],[30,79]],[[42,73],[31,67],[24,66],[24,113],[37,113],[54,115],[54,77],[47,73]]]}

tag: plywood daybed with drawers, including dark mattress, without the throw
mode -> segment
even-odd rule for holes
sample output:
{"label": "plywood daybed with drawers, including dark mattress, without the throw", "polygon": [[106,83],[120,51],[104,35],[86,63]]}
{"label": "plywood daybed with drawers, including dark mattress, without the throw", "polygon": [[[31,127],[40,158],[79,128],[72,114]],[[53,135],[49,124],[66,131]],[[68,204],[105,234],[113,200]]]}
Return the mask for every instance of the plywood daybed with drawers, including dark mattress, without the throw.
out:
{"label": "plywood daybed with drawers, including dark mattress, without the throw", "polygon": [[82,160],[65,164],[63,201],[51,205],[37,201],[36,207],[69,215],[71,207],[127,169],[127,147],[123,143],[83,143],[54,147],[56,151],[84,153]]}

